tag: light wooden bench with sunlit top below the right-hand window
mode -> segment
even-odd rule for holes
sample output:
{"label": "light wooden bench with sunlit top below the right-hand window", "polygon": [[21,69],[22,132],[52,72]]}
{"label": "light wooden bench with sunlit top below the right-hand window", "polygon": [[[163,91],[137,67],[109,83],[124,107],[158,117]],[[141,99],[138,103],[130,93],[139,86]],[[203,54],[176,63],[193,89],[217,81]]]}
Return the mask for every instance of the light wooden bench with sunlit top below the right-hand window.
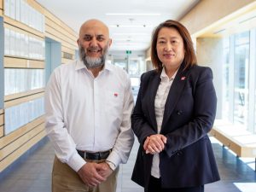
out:
{"label": "light wooden bench with sunlit top below the right-hand window", "polygon": [[233,125],[223,120],[215,120],[210,135],[230,148],[236,156],[255,158],[256,172],[256,135],[246,131],[241,125]]}

